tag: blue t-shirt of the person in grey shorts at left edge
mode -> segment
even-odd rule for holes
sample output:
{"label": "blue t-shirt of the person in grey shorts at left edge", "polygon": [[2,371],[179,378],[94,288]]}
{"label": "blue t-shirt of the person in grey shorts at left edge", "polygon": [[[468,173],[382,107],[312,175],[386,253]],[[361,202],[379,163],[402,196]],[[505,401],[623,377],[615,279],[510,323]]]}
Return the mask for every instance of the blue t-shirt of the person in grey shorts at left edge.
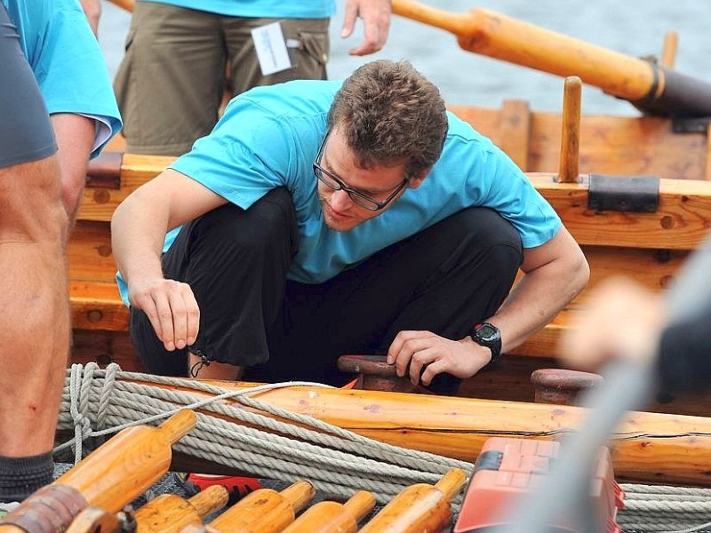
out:
{"label": "blue t-shirt of the person in grey shorts at left edge", "polygon": [[94,119],[92,157],[121,129],[99,43],[77,0],[2,0],[50,114]]}

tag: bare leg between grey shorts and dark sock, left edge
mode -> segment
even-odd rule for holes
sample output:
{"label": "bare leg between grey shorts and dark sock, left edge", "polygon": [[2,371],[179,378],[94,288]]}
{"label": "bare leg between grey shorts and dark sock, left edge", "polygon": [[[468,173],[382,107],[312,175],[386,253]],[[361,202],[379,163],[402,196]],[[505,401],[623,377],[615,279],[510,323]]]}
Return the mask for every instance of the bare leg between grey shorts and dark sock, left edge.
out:
{"label": "bare leg between grey shorts and dark sock, left edge", "polygon": [[0,455],[52,449],[69,346],[57,157],[0,169]]}

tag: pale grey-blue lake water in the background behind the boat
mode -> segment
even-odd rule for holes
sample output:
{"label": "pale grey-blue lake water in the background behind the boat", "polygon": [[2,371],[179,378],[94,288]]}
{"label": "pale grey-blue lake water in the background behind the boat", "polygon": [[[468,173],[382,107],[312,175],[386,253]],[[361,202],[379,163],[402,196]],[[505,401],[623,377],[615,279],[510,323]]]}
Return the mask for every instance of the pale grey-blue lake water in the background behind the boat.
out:
{"label": "pale grey-blue lake water in the background behind the boat", "polygon": [[[102,3],[100,44],[113,76],[123,55],[130,15],[113,4]],[[440,88],[450,104],[500,107],[505,99],[526,99],[532,110],[559,111],[562,106],[562,78],[462,51],[450,33],[398,16],[393,17],[383,51],[364,58],[348,56],[348,49],[360,43],[362,28],[356,28],[355,35],[346,40],[340,38],[345,1],[338,3],[339,11],[331,23],[329,76],[333,79],[348,76],[368,60],[407,59]],[[679,35],[675,69],[711,83],[708,0],[427,0],[425,3],[458,13],[483,7],[633,57],[659,56],[665,34],[675,31]],[[627,102],[592,86],[583,88],[582,110],[586,114],[636,114]]]}

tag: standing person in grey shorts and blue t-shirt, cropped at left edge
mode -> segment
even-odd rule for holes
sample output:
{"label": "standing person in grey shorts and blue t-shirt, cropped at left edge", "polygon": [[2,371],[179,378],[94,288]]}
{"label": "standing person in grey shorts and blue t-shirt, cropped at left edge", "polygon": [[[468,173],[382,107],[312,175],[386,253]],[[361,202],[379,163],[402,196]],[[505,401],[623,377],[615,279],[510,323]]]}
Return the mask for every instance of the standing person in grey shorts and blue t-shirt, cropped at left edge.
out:
{"label": "standing person in grey shorts and blue t-shirt, cropped at left edge", "polygon": [[69,349],[67,237],[120,118],[76,0],[0,2],[0,506],[52,481]]}

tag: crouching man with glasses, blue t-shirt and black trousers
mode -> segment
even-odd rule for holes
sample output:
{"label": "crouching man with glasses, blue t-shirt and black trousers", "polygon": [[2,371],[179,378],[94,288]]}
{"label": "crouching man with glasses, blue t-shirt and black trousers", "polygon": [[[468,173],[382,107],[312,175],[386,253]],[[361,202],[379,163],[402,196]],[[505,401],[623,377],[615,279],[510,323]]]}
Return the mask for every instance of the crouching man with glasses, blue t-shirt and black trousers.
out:
{"label": "crouching man with glasses, blue t-shirt and black trousers", "polygon": [[523,172],[405,61],[236,97],[112,232],[143,362],[200,378],[342,383],[340,354],[380,353],[452,393],[589,274]]}

